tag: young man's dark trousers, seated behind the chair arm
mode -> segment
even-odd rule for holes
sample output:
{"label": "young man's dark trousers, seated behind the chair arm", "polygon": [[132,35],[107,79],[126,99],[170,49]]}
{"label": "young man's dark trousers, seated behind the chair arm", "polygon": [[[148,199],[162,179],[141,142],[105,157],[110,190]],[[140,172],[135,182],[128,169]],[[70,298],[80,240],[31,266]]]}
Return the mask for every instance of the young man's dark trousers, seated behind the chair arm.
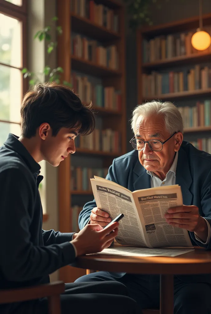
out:
{"label": "young man's dark trousers, seated behind the chair arm", "polygon": [[[62,314],[140,314],[137,303],[129,298],[127,288],[115,281],[65,284],[61,295]],[[5,314],[47,314],[47,298],[1,308]]]}

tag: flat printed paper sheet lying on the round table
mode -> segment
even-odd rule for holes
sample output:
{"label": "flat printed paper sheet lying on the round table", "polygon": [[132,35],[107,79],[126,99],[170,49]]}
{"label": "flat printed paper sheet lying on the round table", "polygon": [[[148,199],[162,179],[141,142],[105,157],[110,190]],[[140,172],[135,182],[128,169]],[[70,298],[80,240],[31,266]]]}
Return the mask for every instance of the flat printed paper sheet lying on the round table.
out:
{"label": "flat printed paper sheet lying on the round table", "polygon": [[188,252],[194,251],[194,249],[187,248],[154,248],[149,249],[146,247],[127,247],[118,246],[113,248],[104,249],[97,254],[111,254],[121,256],[136,256],[136,257],[152,257],[152,256],[167,256],[175,257]]}

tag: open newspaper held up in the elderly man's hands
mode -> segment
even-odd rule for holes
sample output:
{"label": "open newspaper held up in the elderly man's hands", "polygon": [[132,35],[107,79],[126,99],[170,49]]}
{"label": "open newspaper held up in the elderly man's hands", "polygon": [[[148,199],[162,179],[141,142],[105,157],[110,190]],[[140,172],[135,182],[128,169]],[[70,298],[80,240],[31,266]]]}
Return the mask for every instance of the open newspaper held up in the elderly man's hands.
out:
{"label": "open newspaper held up in the elderly man's hands", "polygon": [[192,247],[188,231],[169,225],[164,217],[168,208],[183,205],[178,184],[131,192],[97,176],[90,180],[97,207],[111,219],[124,214],[116,237],[118,243],[149,248]]}

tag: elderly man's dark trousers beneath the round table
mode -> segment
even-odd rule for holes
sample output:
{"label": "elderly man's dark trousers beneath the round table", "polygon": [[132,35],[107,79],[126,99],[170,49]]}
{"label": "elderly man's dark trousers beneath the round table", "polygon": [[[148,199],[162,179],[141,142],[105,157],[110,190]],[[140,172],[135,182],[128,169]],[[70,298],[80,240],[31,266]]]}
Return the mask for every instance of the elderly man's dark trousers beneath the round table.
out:
{"label": "elderly man's dark trousers beneath the round table", "polygon": [[[121,278],[114,278],[112,273],[100,271],[80,277],[75,282],[106,280],[126,285],[129,297],[136,300],[141,309],[160,307],[159,275],[126,274]],[[210,284],[186,283],[174,276],[174,314],[211,314]]]}

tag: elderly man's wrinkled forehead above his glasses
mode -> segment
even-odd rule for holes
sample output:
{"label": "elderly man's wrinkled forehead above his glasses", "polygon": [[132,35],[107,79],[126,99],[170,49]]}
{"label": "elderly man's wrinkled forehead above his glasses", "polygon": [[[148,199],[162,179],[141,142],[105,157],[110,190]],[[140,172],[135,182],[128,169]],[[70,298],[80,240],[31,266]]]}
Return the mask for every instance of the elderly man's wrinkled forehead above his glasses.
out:
{"label": "elderly man's wrinkled forehead above his glasses", "polygon": [[168,134],[165,128],[165,122],[162,116],[139,116],[136,125],[135,125],[135,135],[136,134],[145,134],[145,135],[154,135],[164,136]]}

